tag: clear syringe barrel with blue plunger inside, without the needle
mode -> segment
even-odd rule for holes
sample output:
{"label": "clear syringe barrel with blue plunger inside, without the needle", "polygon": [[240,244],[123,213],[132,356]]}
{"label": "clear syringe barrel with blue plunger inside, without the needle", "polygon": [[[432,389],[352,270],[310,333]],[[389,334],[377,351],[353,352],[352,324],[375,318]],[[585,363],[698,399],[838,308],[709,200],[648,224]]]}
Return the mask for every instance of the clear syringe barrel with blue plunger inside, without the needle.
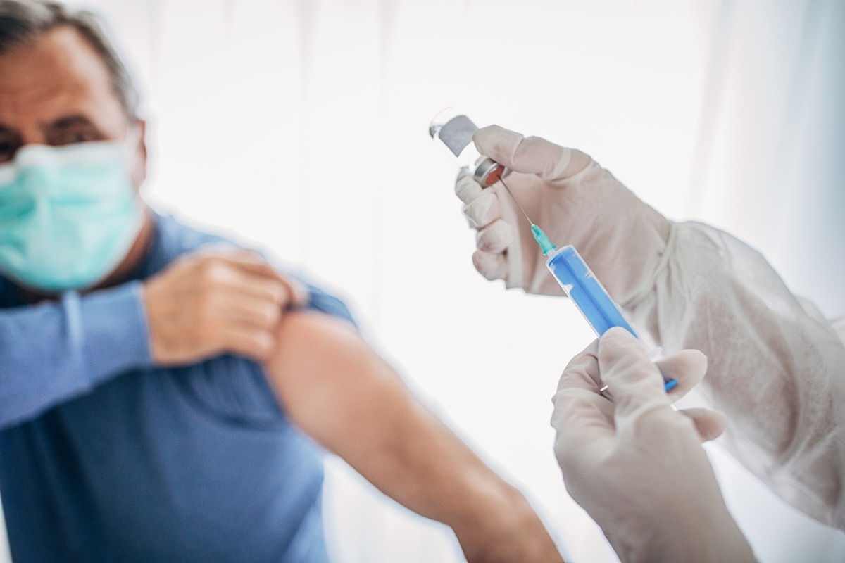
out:
{"label": "clear syringe barrel with blue plunger inside, without the needle", "polygon": [[622,327],[640,338],[574,246],[551,253],[546,266],[598,336],[610,328]]}

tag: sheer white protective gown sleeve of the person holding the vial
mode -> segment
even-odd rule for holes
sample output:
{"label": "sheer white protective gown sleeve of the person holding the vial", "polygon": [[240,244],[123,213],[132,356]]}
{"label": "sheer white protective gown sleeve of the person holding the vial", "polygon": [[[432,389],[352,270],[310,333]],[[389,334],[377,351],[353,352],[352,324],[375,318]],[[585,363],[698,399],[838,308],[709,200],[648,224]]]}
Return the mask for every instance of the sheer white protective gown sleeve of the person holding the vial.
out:
{"label": "sheer white protective gown sleeve of the person holding the vial", "polygon": [[673,225],[644,295],[625,304],[666,353],[707,355],[701,394],[720,438],[785,501],[845,529],[845,343],[759,252],[699,223]]}

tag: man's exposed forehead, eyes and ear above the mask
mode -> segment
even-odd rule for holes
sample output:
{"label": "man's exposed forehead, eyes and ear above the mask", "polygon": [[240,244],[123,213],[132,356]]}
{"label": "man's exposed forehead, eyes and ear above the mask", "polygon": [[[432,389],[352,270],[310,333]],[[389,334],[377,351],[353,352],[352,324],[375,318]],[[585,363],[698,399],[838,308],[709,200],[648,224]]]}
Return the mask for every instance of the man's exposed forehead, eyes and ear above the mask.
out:
{"label": "man's exposed forehead, eyes and ear above the mask", "polygon": [[[133,147],[131,174],[144,181],[146,149]],[[68,26],[0,55],[0,165],[25,144],[123,141],[129,120],[92,46]]]}

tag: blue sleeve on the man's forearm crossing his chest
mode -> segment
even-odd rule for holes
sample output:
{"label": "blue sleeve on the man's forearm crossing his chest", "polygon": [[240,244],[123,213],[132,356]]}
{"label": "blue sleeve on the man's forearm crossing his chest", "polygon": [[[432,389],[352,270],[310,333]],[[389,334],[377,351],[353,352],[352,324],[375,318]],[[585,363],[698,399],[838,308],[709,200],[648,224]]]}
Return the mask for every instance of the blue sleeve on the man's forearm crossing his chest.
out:
{"label": "blue sleeve on the man's forearm crossing his chest", "polygon": [[0,310],[0,428],[152,364],[141,284]]}

